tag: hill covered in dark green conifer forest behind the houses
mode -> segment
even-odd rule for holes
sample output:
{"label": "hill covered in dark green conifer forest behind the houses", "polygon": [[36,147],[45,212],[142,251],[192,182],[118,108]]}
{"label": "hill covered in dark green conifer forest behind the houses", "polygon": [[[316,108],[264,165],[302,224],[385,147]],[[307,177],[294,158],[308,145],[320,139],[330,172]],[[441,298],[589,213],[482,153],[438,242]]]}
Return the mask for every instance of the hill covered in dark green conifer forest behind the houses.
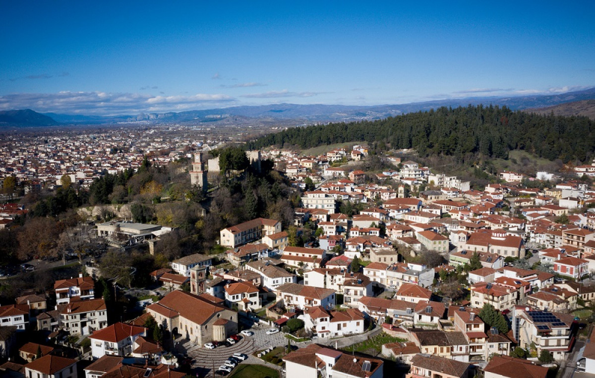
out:
{"label": "hill covered in dark green conifer forest behind the houses", "polygon": [[553,116],[511,111],[498,106],[439,108],[378,121],[297,127],[258,138],[250,148],[367,141],[419,155],[444,154],[464,159],[481,154],[508,158],[509,150],[527,150],[550,160],[587,161],[595,149],[595,122],[583,116]]}

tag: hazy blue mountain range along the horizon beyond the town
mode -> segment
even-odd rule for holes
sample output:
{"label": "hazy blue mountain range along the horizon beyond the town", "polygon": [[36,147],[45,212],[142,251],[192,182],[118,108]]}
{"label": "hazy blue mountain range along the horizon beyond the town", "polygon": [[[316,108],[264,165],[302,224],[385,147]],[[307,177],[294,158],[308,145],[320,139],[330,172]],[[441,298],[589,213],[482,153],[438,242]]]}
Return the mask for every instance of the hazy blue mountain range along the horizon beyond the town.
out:
{"label": "hazy blue mountain range along the horizon beyond the town", "polygon": [[[383,119],[389,116],[429,111],[441,106],[498,105],[512,110],[541,112],[541,108],[595,99],[595,88],[556,95],[531,95],[510,97],[466,97],[414,102],[400,105],[349,106],[349,105],[296,105],[280,103],[260,106],[234,106],[231,108],[206,109],[200,111],[142,113],[139,115],[87,116],[46,113],[39,114],[30,109],[1,111],[0,126],[51,126],[57,124],[123,124],[143,122],[147,124],[208,124],[209,127],[224,127],[230,124],[242,125],[297,125],[315,122],[350,122]],[[574,114],[590,115],[595,104],[583,103],[572,109]],[[569,108],[569,106],[566,106]],[[548,111],[550,112],[550,111]]]}

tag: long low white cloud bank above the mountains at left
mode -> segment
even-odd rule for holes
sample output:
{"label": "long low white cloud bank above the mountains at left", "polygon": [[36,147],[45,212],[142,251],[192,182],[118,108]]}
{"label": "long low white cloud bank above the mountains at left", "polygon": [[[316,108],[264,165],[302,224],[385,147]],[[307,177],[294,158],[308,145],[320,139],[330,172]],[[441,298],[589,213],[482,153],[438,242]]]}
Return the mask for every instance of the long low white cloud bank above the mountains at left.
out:
{"label": "long low white cloud bank above the mountains at left", "polygon": [[115,115],[229,106],[234,98],[199,93],[190,96],[155,96],[140,93],[59,92],[0,96],[0,110],[30,108],[37,112]]}

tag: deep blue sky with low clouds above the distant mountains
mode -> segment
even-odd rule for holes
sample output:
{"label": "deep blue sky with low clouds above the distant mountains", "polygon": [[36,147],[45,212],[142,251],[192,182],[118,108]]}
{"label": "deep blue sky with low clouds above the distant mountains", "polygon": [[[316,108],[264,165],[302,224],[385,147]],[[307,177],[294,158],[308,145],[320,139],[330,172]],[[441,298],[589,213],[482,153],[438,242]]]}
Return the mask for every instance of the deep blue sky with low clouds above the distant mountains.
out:
{"label": "deep blue sky with low clouds above the distant mountains", "polygon": [[590,2],[0,2],[0,110],[379,105],[595,86]]}

